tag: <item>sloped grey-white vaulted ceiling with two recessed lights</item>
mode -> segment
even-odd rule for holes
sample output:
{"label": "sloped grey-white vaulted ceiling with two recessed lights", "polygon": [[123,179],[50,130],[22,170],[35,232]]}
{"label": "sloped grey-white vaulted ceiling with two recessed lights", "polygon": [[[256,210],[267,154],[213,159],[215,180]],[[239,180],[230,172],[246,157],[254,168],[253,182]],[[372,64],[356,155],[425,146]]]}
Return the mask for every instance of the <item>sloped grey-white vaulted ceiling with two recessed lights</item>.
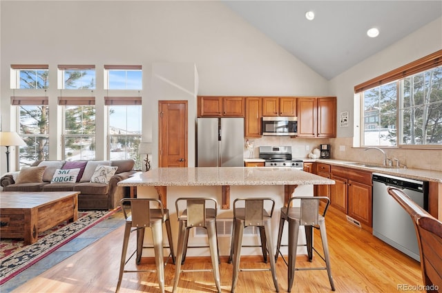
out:
{"label": "sloped grey-white vaulted ceiling with two recessed lights", "polygon": [[[224,3],[326,79],[442,16],[440,0]],[[305,18],[307,11],[314,20]],[[369,28],[378,28],[378,37],[367,37]]]}

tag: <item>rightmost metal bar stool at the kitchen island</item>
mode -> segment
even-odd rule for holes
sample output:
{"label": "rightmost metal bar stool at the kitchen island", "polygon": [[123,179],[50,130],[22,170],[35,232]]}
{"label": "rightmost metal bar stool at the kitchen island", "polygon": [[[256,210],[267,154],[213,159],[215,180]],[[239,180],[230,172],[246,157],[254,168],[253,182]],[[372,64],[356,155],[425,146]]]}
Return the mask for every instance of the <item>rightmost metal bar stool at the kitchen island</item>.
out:
{"label": "rightmost metal bar stool at the kitchen island", "polygon": [[[293,201],[296,200],[300,201],[300,207],[292,207]],[[325,208],[322,214],[320,214],[320,201],[325,202]],[[332,286],[332,291],[335,290],[332,277],[332,269],[330,268],[327,232],[325,230],[325,213],[327,212],[329,203],[330,200],[327,198],[327,196],[294,196],[289,199],[287,207],[281,208],[275,261],[278,259],[278,255],[280,254],[288,267],[287,278],[289,287],[287,289],[287,292],[291,292],[291,287],[293,286],[296,270],[327,270],[330,285]],[[280,252],[282,230],[284,229],[285,221],[289,222],[288,263]],[[325,261],[325,267],[296,268],[296,251],[298,249],[298,233],[300,226],[304,226],[305,228],[305,236],[307,241],[306,246],[309,261],[312,261],[313,251],[315,251],[320,256],[320,258]],[[322,256],[313,245],[313,228],[320,230],[320,238],[323,242],[324,256]]]}

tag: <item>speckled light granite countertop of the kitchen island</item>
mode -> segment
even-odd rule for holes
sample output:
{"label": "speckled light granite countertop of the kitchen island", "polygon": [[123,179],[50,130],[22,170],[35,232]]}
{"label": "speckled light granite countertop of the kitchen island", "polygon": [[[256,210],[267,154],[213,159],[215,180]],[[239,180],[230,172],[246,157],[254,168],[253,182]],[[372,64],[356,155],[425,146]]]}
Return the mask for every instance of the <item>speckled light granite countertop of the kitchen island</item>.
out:
{"label": "speckled light granite countertop of the kitchen island", "polygon": [[120,181],[120,186],[198,186],[198,185],[323,185],[334,184],[316,174],[295,168],[200,167],[155,168]]}

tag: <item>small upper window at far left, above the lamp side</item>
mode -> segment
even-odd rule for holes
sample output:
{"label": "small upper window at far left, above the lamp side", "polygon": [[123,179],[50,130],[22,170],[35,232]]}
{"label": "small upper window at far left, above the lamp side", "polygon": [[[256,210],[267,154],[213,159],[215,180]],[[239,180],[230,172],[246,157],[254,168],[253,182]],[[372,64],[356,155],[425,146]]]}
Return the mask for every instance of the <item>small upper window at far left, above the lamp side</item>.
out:
{"label": "small upper window at far left, above the lamp side", "polygon": [[48,65],[11,65],[12,89],[47,89],[49,88]]}

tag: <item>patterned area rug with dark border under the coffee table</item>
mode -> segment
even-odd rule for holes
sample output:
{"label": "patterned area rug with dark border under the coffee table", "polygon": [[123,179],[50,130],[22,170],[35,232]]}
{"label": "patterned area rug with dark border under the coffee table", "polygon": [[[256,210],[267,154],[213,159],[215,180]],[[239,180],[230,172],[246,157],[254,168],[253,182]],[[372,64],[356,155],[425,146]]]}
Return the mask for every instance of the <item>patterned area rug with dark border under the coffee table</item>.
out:
{"label": "patterned area rug with dark border under the coffee table", "polygon": [[24,245],[23,239],[2,239],[0,241],[0,285],[116,211],[79,211],[77,221],[61,223],[55,228],[42,232],[37,242],[30,245]]}

